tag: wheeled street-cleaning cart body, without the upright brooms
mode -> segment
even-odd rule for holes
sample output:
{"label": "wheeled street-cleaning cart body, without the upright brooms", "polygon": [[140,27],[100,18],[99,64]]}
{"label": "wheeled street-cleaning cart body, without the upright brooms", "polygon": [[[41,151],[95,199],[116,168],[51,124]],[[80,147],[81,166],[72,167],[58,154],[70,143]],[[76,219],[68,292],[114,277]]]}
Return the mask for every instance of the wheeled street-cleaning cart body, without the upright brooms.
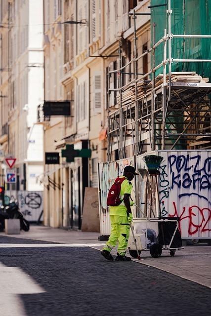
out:
{"label": "wheeled street-cleaning cart body, without the upright brooms", "polygon": [[[134,206],[142,212],[137,205],[134,204]],[[137,258],[141,251],[149,251],[153,258],[158,258],[163,250],[169,251],[170,256],[174,256],[176,250],[183,249],[181,235],[178,230],[178,218],[150,219],[143,212],[142,214],[145,218],[133,219],[133,227],[131,227],[133,234],[130,234],[128,240],[131,257]]]}

